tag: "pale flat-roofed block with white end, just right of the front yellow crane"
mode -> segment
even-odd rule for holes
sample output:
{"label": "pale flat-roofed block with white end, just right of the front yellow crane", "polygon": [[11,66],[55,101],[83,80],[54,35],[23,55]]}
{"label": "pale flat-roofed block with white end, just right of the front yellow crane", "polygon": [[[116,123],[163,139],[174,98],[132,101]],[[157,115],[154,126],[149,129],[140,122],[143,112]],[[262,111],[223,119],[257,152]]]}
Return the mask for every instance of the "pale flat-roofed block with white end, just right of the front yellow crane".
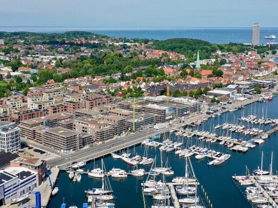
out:
{"label": "pale flat-roofed block with white end, just right of the front yellow crane", "polygon": [[153,113],[155,115],[155,123],[162,123],[173,119],[173,108],[166,107],[157,104],[143,105],[143,109],[147,113]]}

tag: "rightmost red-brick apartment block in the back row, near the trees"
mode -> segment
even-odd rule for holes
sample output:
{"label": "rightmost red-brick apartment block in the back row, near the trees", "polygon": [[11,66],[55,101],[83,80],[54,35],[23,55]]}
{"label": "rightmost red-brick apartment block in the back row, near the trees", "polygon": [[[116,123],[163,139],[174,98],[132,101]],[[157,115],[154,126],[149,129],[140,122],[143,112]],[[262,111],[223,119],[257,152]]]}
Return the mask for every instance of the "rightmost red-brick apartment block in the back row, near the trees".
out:
{"label": "rightmost red-brick apartment block in the back row, near the trees", "polygon": [[113,97],[98,93],[90,93],[85,96],[84,106],[87,109],[93,109],[94,107],[108,104],[114,104]]}

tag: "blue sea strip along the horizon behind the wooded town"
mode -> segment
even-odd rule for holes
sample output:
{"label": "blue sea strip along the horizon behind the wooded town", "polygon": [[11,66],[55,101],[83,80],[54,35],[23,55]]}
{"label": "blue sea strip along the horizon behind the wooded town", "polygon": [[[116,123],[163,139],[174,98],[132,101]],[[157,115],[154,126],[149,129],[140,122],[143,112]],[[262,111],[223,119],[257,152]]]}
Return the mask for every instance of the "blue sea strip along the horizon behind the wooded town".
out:
{"label": "blue sea strip along the horizon behind the wooded town", "polygon": [[[1,27],[7,32],[62,33],[66,31],[88,31],[111,37],[147,38],[165,40],[169,38],[194,38],[211,43],[251,43],[252,28],[89,28],[89,27]],[[275,42],[264,39],[266,35],[276,35],[278,28],[261,28],[260,43]],[[278,41],[277,41],[278,42]]]}

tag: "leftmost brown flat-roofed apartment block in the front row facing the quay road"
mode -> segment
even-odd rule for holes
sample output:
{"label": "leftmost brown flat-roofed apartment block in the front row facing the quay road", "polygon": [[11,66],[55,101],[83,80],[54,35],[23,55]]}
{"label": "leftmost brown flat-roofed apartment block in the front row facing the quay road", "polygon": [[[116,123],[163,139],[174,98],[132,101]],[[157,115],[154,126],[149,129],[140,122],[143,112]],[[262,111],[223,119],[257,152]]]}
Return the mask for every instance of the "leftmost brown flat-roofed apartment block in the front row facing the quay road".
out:
{"label": "leftmost brown flat-roofed apartment block in the front row facing the quay road", "polygon": [[79,132],[61,127],[37,130],[37,140],[41,144],[66,153],[82,147]]}

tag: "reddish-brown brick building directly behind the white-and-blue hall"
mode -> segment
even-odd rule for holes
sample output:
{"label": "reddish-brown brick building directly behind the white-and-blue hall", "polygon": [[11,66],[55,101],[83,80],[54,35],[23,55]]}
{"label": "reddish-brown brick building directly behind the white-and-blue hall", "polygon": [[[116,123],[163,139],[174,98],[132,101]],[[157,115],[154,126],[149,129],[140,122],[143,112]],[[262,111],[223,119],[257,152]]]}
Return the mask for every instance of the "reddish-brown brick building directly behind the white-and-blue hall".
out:
{"label": "reddish-brown brick building directly behind the white-and-blue hall", "polygon": [[41,184],[46,175],[46,160],[41,157],[17,157],[10,161],[10,167],[24,167],[35,171],[38,174],[38,186]]}

